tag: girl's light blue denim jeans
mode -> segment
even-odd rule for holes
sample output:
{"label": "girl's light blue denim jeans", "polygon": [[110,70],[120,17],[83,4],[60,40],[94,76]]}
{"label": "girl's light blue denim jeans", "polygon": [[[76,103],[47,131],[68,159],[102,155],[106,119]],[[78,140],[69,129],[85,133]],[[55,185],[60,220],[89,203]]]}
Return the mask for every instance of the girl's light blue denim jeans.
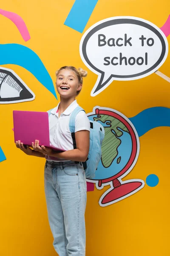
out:
{"label": "girl's light blue denim jeans", "polygon": [[48,219],[59,256],[85,256],[87,185],[82,163],[45,163]]}

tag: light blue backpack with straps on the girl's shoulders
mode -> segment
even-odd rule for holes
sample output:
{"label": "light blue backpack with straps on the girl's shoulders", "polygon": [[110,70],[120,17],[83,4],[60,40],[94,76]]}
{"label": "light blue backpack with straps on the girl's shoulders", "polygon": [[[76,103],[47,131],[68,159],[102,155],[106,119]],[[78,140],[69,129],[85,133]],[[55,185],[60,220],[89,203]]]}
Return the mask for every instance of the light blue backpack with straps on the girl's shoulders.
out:
{"label": "light blue backpack with straps on the girl's shoulders", "polygon": [[[52,109],[51,109],[52,110]],[[51,110],[48,111],[48,117],[51,114]],[[70,121],[69,121],[69,129],[71,132],[71,137],[73,139],[73,147],[76,147],[76,139],[75,139],[75,119],[77,114],[80,111],[84,111],[81,107],[77,106],[74,111],[71,113]],[[95,172],[99,161],[102,157],[102,141],[105,137],[104,127],[96,121],[90,120],[90,148],[88,152],[88,158],[85,162],[82,162],[83,167],[85,169],[85,176],[88,179],[92,179],[95,177]]]}

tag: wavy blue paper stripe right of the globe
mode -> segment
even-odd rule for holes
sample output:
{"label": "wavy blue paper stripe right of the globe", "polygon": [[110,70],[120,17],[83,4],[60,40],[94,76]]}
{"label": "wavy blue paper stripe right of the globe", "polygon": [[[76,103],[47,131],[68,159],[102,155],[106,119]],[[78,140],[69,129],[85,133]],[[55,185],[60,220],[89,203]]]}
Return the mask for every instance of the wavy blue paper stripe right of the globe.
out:
{"label": "wavy blue paper stripe right of the globe", "polygon": [[160,126],[170,126],[170,108],[154,107],[129,118],[140,136],[147,131]]}

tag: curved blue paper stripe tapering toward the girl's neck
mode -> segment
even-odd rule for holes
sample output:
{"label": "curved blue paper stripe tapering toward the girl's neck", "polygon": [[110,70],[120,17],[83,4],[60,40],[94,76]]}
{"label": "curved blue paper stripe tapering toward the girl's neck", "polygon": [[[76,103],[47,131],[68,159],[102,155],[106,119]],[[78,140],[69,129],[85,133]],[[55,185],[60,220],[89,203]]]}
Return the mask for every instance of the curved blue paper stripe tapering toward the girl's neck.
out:
{"label": "curved blue paper stripe tapering toward the girl's neck", "polygon": [[51,76],[39,56],[30,48],[21,44],[0,44],[0,65],[4,64],[24,67],[57,98]]}

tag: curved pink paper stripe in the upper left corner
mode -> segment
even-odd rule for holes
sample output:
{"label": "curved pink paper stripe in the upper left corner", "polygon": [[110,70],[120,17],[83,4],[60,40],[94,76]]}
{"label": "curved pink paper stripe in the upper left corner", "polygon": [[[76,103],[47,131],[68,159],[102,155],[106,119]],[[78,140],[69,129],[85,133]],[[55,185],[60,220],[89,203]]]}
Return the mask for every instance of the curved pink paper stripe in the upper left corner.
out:
{"label": "curved pink paper stripe in the upper left corner", "polygon": [[10,19],[17,26],[18,30],[20,31],[20,34],[22,35],[25,41],[28,41],[31,38],[25,22],[19,15],[17,15],[14,12],[4,11],[3,9],[0,9],[0,14]]}

